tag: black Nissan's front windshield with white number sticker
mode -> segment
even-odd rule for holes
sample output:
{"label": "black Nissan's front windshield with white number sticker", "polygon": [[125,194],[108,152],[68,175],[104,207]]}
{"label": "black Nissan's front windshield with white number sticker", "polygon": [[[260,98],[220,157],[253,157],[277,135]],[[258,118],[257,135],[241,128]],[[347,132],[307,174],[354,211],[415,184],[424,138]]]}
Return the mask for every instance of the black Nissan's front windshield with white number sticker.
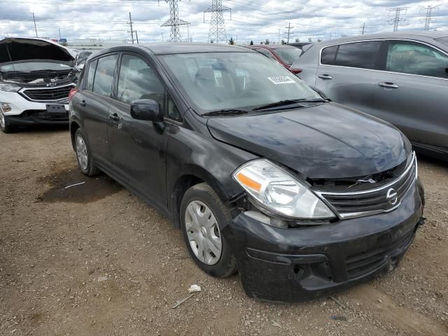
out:
{"label": "black Nissan's front windshield with white number sticker", "polygon": [[258,52],[161,56],[198,113],[252,109],[288,99],[321,97],[283,66]]}

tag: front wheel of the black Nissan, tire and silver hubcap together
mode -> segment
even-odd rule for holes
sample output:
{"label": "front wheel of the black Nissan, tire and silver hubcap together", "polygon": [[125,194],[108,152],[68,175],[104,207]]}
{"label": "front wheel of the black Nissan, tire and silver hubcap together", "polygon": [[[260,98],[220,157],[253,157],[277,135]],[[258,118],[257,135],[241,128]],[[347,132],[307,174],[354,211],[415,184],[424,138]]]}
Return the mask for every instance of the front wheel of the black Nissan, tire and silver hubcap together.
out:
{"label": "front wheel of the black Nissan, tire and silver hubcap together", "polygon": [[[197,215],[196,221],[192,211]],[[183,195],[180,217],[188,252],[200,269],[217,278],[234,274],[237,260],[221,233],[232,217],[211,186],[200,183],[188,189]],[[221,251],[220,255],[217,251]]]}

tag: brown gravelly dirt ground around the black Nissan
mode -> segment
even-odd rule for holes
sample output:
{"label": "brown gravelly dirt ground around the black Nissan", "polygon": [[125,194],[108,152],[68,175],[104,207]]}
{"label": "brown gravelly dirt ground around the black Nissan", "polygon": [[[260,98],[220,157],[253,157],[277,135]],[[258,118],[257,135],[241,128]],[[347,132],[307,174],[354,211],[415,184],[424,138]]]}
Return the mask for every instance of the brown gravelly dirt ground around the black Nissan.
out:
{"label": "brown gravelly dirt ground around the black Nissan", "polygon": [[200,272],[165,218],[78,172],[67,130],[0,132],[0,158],[1,335],[448,335],[447,164],[419,160],[428,220],[398,269],[283,305]]}

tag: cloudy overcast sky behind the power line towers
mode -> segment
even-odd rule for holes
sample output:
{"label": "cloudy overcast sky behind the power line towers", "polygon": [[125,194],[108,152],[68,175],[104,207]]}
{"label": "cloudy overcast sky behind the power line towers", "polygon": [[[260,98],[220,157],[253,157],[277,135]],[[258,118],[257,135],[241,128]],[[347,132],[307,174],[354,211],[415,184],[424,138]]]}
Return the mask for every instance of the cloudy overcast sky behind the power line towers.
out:
{"label": "cloudy overcast sky behind the power line towers", "polygon": [[[390,8],[407,7],[401,13],[399,30],[422,30],[421,22],[426,16],[423,7],[440,4],[433,10],[431,29],[448,31],[448,1],[337,1],[295,0],[256,1],[223,0],[223,6],[232,9],[224,13],[227,37],[238,43],[253,40],[260,43],[268,38],[278,42],[286,39],[286,27],[290,23],[290,41],[299,38],[328,39],[344,35],[357,35],[365,24],[365,33],[392,31],[387,21],[395,14]],[[211,0],[179,1],[179,18],[190,22],[189,29],[181,27],[182,38],[188,33],[194,42],[206,42],[211,13],[204,10]],[[169,27],[160,27],[169,19],[169,5],[165,0],[0,0],[0,38],[3,36],[35,36],[31,13],[36,17],[38,36],[62,38],[69,41],[78,38],[127,39],[130,34],[129,12],[132,13],[134,29],[140,42],[165,41],[169,38]]]}

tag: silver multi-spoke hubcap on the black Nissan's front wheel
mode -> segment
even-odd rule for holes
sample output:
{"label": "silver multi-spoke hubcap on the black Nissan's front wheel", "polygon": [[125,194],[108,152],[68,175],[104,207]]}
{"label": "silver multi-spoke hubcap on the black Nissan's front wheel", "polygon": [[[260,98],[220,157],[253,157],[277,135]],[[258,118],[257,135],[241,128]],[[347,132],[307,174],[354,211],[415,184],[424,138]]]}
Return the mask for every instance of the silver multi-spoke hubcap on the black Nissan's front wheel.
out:
{"label": "silver multi-spoke hubcap on the black Nissan's front wheel", "polygon": [[190,202],[185,214],[185,226],[196,258],[207,265],[216,264],[223,253],[223,241],[211,209],[200,201]]}

